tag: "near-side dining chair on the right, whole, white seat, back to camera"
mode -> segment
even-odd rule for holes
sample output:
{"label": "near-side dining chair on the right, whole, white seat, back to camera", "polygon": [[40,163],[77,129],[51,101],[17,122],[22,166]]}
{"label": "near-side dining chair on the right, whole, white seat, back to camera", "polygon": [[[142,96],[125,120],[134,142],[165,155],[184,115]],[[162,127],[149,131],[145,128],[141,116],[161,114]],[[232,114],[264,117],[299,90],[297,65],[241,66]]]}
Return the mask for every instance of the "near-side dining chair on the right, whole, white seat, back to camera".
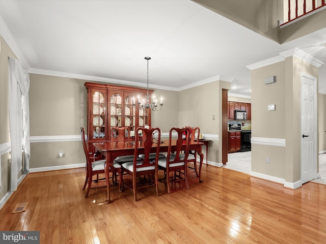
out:
{"label": "near-side dining chair on the right, whole, white seat, back to camera", "polygon": [[[177,133],[176,146],[172,147],[172,134],[174,134],[175,132]],[[183,138],[184,132],[186,132],[185,138]],[[182,148],[184,146],[185,148]],[[171,193],[170,182],[184,180],[187,190],[189,190],[188,176],[187,176],[188,154],[189,154],[189,129],[171,128],[169,133],[169,146],[168,146],[167,158],[158,160],[158,169],[164,170],[165,184],[168,186],[169,194]],[[171,172],[174,172],[174,175],[170,176]]]}

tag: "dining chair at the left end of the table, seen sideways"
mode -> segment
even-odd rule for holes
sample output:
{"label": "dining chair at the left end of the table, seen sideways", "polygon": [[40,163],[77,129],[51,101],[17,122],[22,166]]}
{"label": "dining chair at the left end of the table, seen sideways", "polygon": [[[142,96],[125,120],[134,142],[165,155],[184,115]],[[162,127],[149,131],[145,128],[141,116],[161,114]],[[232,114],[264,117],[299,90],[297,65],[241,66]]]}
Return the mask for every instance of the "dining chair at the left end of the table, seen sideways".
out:
{"label": "dining chair at the left end of the table, seen sideways", "polygon": [[[89,153],[88,145],[87,145],[86,139],[85,139],[84,127],[80,128],[80,134],[82,136],[82,143],[83,143],[84,152],[85,152],[85,156],[86,156],[86,179],[85,179],[85,184],[83,187],[83,190],[85,190],[86,186],[88,185],[87,191],[85,194],[85,198],[86,198],[86,197],[88,197],[90,189],[106,187],[106,185],[99,186],[99,187],[91,187],[93,181],[98,182],[99,180],[105,180],[105,177],[99,179],[99,176],[98,176],[99,174],[104,174],[105,159],[103,160],[101,155],[97,156],[94,153]],[[94,175],[96,175],[96,179],[93,180]]]}

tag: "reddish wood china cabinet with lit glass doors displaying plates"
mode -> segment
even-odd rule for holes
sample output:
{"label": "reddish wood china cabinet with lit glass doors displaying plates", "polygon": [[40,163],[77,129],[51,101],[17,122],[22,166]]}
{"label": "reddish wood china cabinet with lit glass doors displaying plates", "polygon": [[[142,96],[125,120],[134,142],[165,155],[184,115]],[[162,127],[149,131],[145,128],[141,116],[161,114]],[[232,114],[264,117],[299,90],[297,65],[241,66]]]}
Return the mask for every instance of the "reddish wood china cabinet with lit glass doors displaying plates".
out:
{"label": "reddish wood china cabinet with lit glass doors displaying plates", "polygon": [[[87,88],[87,138],[90,151],[94,142],[112,139],[111,127],[151,126],[151,110],[139,110],[147,89],[85,82]],[[149,90],[151,95],[153,90]]]}

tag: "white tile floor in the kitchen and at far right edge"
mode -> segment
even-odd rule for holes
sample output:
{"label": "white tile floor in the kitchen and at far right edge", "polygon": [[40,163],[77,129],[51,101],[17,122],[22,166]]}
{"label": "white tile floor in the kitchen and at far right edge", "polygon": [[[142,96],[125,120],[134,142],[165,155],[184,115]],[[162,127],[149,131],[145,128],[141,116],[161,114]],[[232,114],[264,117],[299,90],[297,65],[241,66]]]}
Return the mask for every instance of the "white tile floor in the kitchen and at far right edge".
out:
{"label": "white tile floor in the kitchen and at far right edge", "polygon": [[[223,166],[243,173],[251,172],[251,151],[228,154],[228,163]],[[326,185],[326,154],[319,155],[320,178],[311,180]]]}

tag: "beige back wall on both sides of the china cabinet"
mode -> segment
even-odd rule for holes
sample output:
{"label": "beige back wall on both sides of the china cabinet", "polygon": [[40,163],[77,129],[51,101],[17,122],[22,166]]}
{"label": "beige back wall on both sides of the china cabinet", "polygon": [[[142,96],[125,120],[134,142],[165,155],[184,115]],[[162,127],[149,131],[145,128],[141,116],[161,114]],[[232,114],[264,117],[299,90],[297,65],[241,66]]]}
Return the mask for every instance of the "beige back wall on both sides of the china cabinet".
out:
{"label": "beige back wall on both sides of the china cabinet", "polygon": [[[86,80],[31,74],[30,81],[30,168],[84,164],[80,141],[35,142],[33,137],[74,136],[80,134],[80,127],[87,128]],[[155,90],[155,94],[164,98],[164,106],[152,113],[152,126],[169,132],[178,123],[177,92]],[[64,157],[58,157],[59,150]]]}

